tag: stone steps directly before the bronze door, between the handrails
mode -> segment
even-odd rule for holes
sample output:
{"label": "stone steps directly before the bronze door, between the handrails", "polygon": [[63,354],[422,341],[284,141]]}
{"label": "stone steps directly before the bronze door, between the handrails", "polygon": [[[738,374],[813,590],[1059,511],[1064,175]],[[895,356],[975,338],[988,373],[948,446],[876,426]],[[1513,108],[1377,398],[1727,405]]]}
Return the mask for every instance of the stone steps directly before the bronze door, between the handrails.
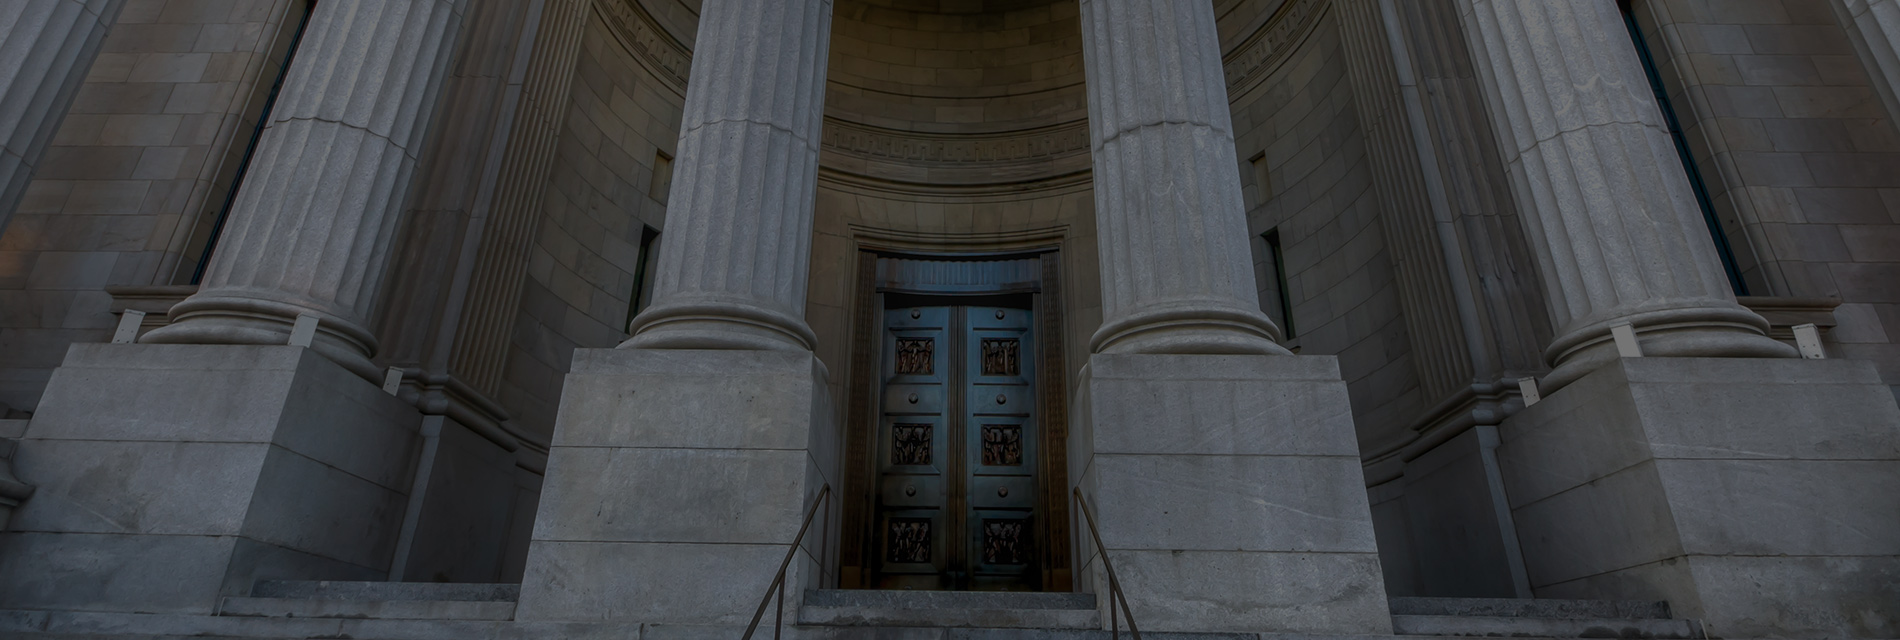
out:
{"label": "stone steps directly before the bronze door, between the handrails", "polygon": [[804,627],[1102,629],[1085,593],[806,591]]}

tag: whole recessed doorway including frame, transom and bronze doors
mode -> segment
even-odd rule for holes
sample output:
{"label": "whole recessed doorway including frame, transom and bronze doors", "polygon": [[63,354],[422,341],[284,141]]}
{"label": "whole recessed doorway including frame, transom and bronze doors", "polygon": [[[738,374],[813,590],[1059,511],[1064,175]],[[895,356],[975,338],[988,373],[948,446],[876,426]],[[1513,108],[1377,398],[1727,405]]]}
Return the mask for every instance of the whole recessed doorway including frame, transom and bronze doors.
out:
{"label": "whole recessed doorway including frame, transom and bronze doors", "polygon": [[1053,253],[864,258],[844,587],[1070,591]]}

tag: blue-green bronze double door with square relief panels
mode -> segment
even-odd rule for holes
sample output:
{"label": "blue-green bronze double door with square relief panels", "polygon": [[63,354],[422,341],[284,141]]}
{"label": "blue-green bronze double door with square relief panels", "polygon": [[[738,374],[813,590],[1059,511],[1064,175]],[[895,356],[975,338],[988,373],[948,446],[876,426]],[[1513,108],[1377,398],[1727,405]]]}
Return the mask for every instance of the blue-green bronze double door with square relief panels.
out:
{"label": "blue-green bronze double door with square relief panels", "polygon": [[1037,587],[1030,315],[994,306],[885,311],[878,589]]}

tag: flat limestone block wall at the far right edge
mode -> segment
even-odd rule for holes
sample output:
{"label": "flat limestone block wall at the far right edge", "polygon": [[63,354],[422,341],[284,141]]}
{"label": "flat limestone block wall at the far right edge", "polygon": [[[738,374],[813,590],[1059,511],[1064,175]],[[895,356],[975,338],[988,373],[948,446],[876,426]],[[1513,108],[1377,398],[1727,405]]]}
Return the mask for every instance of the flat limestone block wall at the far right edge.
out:
{"label": "flat limestone block wall at the far right edge", "polygon": [[1828,2],[1636,0],[1750,294],[1837,296],[1900,384],[1900,133]]}

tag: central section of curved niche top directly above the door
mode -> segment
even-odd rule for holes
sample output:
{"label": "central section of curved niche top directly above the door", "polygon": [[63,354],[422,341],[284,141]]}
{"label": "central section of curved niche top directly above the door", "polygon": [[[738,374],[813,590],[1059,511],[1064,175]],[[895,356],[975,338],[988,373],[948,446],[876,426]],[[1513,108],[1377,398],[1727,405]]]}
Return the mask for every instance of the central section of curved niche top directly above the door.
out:
{"label": "central section of curved niche top directly above the door", "polygon": [[825,167],[878,182],[1089,171],[1077,0],[836,0]]}

